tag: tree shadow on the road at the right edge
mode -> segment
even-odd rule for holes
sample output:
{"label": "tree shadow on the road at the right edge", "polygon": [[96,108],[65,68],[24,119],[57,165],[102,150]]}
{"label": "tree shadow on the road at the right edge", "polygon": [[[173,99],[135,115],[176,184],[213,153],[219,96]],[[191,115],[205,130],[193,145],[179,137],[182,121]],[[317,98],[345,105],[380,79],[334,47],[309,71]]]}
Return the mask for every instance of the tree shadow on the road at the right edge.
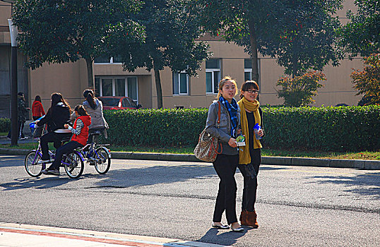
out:
{"label": "tree shadow on the road at the right edge", "polygon": [[352,174],[345,176],[311,176],[308,179],[319,179],[309,183],[334,183],[348,187],[347,192],[359,195],[370,195],[373,200],[380,199],[380,172],[371,174]]}

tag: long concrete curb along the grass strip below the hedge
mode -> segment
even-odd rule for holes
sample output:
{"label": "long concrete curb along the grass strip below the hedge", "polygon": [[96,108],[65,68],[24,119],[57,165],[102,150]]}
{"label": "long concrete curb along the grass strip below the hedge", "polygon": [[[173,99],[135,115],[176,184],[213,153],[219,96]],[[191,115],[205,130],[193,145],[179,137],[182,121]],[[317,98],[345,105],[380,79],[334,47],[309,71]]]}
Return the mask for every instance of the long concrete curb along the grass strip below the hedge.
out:
{"label": "long concrete curb along the grass strip below the hedge", "polygon": [[[29,150],[0,148],[0,155],[26,155]],[[149,152],[111,152],[113,159],[150,159],[164,161],[203,162],[194,155],[162,154]],[[206,163],[206,162],[205,162]],[[261,158],[261,164],[277,164],[301,167],[338,167],[365,170],[380,170],[380,160],[367,159],[316,159],[302,157]]]}

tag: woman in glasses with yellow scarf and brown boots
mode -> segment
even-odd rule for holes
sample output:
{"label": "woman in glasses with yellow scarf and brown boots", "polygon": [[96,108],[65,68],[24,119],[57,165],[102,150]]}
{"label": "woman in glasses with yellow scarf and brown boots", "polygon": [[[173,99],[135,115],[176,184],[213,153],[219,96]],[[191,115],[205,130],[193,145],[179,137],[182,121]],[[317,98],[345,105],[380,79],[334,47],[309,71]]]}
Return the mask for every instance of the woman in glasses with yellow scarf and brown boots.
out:
{"label": "woman in glasses with yellow scarf and brown boots", "polygon": [[[262,138],[263,131],[263,112],[257,99],[259,95],[259,85],[254,80],[243,83],[240,98],[237,104],[241,109],[240,119],[242,134],[245,136],[246,145],[239,151],[239,170],[244,177],[242,213],[240,222],[244,226],[258,228],[257,215],[255,211],[257,174],[261,164],[261,143],[254,133],[256,123],[261,126],[259,136]],[[259,139],[261,139],[259,138]]]}

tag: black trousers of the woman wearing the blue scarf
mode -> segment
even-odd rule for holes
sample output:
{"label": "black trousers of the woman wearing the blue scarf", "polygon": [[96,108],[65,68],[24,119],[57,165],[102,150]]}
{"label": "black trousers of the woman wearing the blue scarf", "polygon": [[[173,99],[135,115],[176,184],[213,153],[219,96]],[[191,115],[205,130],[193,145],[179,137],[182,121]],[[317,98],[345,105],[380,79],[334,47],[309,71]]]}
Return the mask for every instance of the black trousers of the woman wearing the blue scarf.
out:
{"label": "black trousers of the woman wearing the blue scarf", "polygon": [[227,223],[237,222],[236,217],[236,181],[234,174],[239,163],[239,155],[218,155],[213,162],[220,178],[218,196],[216,197],[213,222],[221,222],[225,211]]}

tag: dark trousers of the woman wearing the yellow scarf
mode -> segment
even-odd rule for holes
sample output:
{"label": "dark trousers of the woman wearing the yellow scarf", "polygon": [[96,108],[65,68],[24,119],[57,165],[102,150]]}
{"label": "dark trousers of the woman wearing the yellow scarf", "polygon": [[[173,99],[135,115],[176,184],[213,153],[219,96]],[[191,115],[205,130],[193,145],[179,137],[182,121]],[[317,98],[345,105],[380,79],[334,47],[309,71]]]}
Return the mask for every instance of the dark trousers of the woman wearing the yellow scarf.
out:
{"label": "dark trousers of the woman wearing the yellow scarf", "polygon": [[253,212],[256,203],[257,174],[259,174],[261,164],[261,148],[254,149],[249,155],[251,155],[251,163],[239,164],[237,167],[244,177],[242,211]]}

